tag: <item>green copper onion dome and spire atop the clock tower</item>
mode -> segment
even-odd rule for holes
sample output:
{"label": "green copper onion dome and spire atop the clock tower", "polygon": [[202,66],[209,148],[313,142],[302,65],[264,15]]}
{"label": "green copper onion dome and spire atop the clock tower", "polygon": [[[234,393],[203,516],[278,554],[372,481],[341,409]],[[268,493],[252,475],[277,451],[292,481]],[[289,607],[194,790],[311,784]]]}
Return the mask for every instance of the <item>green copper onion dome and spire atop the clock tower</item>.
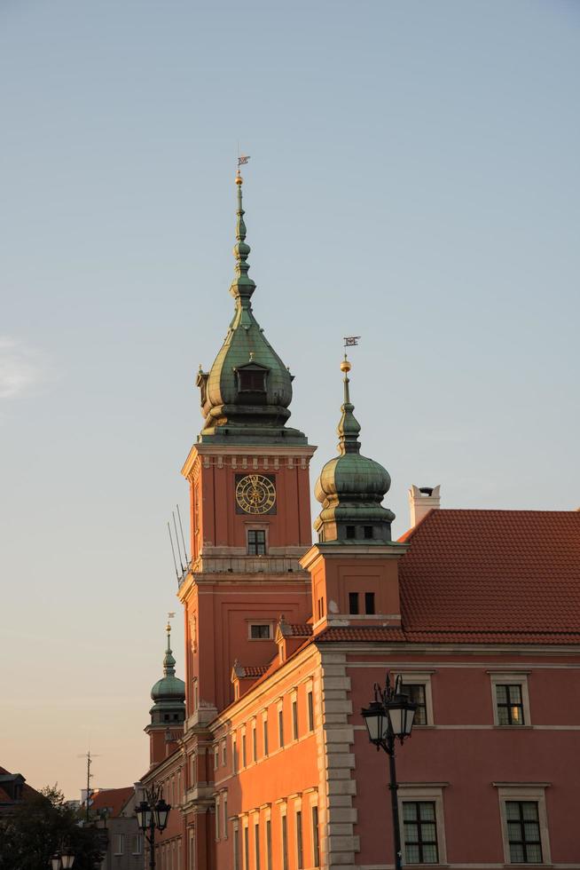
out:
{"label": "green copper onion dome and spire atop the clock tower", "polygon": [[293,376],[267,341],[252,311],[255,283],[248,276],[250,246],[246,242],[242,183],[238,170],[238,221],[233,248],[236,266],[230,287],[235,312],[214,364],[208,372],[200,368],[198,373],[205,417],[199,440],[306,444],[302,432],[286,428]]}

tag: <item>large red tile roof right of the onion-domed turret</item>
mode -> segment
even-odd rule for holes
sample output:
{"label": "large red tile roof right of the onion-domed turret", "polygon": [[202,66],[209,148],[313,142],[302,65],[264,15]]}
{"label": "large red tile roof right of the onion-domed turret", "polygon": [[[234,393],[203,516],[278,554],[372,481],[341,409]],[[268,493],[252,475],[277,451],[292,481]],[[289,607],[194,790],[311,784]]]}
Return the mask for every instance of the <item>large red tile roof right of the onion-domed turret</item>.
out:
{"label": "large red tile roof right of the onion-domed turret", "polygon": [[580,512],[432,510],[403,536],[408,641],[580,644]]}

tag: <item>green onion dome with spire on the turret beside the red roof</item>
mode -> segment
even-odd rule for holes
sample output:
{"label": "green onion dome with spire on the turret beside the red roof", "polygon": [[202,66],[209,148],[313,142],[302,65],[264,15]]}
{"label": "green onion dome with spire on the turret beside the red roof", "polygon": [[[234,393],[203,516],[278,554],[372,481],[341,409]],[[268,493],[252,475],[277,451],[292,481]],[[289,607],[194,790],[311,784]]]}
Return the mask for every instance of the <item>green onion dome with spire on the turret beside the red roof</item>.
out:
{"label": "green onion dome with spire on the turret beside the red roof", "polygon": [[385,543],[391,540],[395,514],[381,502],[391,479],[380,463],[360,453],[360,423],[350,402],[350,368],[345,354],[341,362],[344,401],[337,429],[339,455],[325,464],[314,487],[314,494],[322,503],[314,527],[319,542]]}

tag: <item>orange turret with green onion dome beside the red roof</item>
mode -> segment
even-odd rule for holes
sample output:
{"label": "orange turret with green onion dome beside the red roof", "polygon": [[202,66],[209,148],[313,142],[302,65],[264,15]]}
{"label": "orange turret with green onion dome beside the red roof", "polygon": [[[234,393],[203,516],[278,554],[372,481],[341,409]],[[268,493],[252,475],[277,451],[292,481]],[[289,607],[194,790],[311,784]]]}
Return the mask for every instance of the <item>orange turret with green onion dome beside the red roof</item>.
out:
{"label": "orange turret with green onion dome beside the red roof", "polygon": [[344,400],[339,455],[325,464],[315,486],[322,510],[318,543],[301,559],[312,577],[314,633],[335,626],[400,628],[398,559],[406,545],[391,540],[392,510],[382,506],[390,477],[360,453],[360,425],[350,401],[350,363],[341,362]]}

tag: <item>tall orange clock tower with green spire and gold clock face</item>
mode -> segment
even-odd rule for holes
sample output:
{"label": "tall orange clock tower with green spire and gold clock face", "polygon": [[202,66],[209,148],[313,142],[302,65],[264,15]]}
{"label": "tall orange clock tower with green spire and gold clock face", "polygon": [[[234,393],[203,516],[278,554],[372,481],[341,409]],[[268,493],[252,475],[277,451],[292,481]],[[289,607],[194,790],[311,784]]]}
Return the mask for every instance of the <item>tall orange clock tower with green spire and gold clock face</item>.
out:
{"label": "tall orange clock tower with green spire and gold clock face", "polygon": [[248,276],[242,178],[235,310],[216,360],[200,372],[204,425],[183,468],[190,484],[192,561],[180,582],[185,611],[186,707],[200,730],[234,700],[234,664],[259,675],[276,653],[274,629],[310,616],[310,458],[287,426],[293,376],[259,326]]}

